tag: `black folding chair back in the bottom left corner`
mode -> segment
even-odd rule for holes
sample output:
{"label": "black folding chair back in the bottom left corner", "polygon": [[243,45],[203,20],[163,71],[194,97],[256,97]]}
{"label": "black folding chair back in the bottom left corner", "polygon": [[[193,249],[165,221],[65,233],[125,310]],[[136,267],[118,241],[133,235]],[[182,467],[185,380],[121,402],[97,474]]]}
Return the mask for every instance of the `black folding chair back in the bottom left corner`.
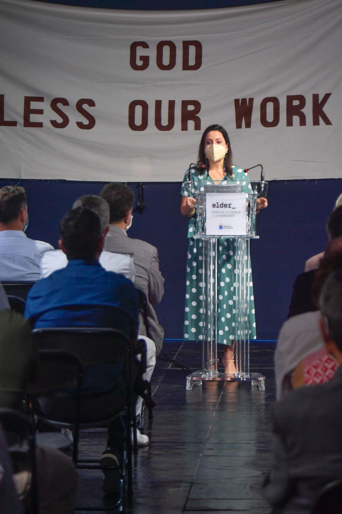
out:
{"label": "black folding chair back in the bottom left corner", "polygon": [[8,439],[8,451],[12,457],[14,472],[17,471],[18,455],[21,456],[21,471],[25,457],[24,468],[31,474],[28,508],[30,514],[38,514],[35,427],[25,414],[12,409],[0,409],[0,421]]}

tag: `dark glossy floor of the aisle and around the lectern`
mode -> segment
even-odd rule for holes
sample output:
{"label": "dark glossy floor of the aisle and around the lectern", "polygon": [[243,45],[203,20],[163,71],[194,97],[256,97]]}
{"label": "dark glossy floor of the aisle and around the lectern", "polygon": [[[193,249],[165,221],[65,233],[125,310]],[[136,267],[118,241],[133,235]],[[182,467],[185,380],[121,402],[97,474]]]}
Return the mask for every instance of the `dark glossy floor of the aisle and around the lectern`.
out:
{"label": "dark glossy floor of the aisle and around the lectern", "polygon": [[[186,391],[188,373],[157,360],[152,377],[157,406],[152,423],[145,421],[150,445],[136,457],[134,501],[126,512],[269,512],[260,484],[270,452],[274,343],[251,343],[250,348],[250,371],[266,376],[265,391],[248,382],[207,382]],[[195,343],[166,341],[163,353],[191,371],[201,366]],[[105,447],[106,431],[83,432],[81,440],[80,457],[96,458]],[[101,473],[80,475],[79,504],[101,504]]]}

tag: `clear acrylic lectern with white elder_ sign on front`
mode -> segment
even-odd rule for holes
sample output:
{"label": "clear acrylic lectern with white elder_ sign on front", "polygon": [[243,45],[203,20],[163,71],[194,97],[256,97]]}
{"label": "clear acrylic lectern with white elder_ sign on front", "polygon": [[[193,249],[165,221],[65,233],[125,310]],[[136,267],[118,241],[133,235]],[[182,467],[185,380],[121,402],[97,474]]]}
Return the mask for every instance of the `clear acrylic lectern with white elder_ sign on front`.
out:
{"label": "clear acrylic lectern with white elder_ sign on front", "polygon": [[[251,381],[265,389],[265,377],[249,372],[250,335],[250,240],[256,239],[256,199],[266,197],[268,184],[251,181],[250,193],[242,193],[239,182],[219,181],[198,190],[188,182],[196,198],[195,238],[202,241],[202,370],[187,376],[187,390],[203,380]],[[220,238],[230,238],[235,248],[236,281],[233,292],[233,323],[235,330],[236,373],[219,373],[217,359],[218,261]],[[221,307],[222,308],[222,307]]]}

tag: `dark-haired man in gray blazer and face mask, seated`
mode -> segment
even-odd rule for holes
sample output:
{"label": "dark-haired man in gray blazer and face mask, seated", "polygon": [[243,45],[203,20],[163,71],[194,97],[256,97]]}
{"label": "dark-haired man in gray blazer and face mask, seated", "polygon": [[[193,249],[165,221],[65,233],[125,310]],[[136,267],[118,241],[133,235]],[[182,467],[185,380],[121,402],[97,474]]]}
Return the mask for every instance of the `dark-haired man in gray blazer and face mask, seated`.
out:
{"label": "dark-haired man in gray blazer and face mask, seated", "polygon": [[[110,208],[109,232],[105,238],[105,250],[124,252],[133,256],[135,267],[134,284],[145,292],[148,309],[148,332],[156,347],[156,354],[162,350],[164,329],[158,323],[153,305],[162,300],[164,295],[164,278],[159,271],[157,249],[139,239],[127,236],[132,223],[134,206],[133,191],[121,183],[107,184],[100,192]],[[139,334],[147,335],[144,321],[140,315]]]}

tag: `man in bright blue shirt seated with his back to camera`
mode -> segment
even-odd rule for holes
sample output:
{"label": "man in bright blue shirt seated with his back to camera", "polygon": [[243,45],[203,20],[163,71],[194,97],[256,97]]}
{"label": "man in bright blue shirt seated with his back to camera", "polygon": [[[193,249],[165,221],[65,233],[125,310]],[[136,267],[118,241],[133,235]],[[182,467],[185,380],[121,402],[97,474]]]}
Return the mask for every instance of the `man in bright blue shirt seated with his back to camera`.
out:
{"label": "man in bright blue shirt seated with his back to camera", "polygon": [[[62,236],[59,245],[67,255],[68,265],[33,285],[27,297],[25,317],[35,328],[112,327],[135,339],[137,292],[132,281],[106,271],[98,263],[104,236],[97,214],[83,207],[73,209],[63,217],[59,231]],[[89,393],[108,392],[110,408],[113,402],[110,391],[121,371],[122,365],[116,368],[112,364],[103,365],[100,369],[97,366],[85,376],[84,388]],[[108,429],[108,448],[101,460],[103,465],[120,464],[123,443],[123,427],[118,419]],[[104,491],[117,492],[118,480],[118,473],[106,472]]]}

